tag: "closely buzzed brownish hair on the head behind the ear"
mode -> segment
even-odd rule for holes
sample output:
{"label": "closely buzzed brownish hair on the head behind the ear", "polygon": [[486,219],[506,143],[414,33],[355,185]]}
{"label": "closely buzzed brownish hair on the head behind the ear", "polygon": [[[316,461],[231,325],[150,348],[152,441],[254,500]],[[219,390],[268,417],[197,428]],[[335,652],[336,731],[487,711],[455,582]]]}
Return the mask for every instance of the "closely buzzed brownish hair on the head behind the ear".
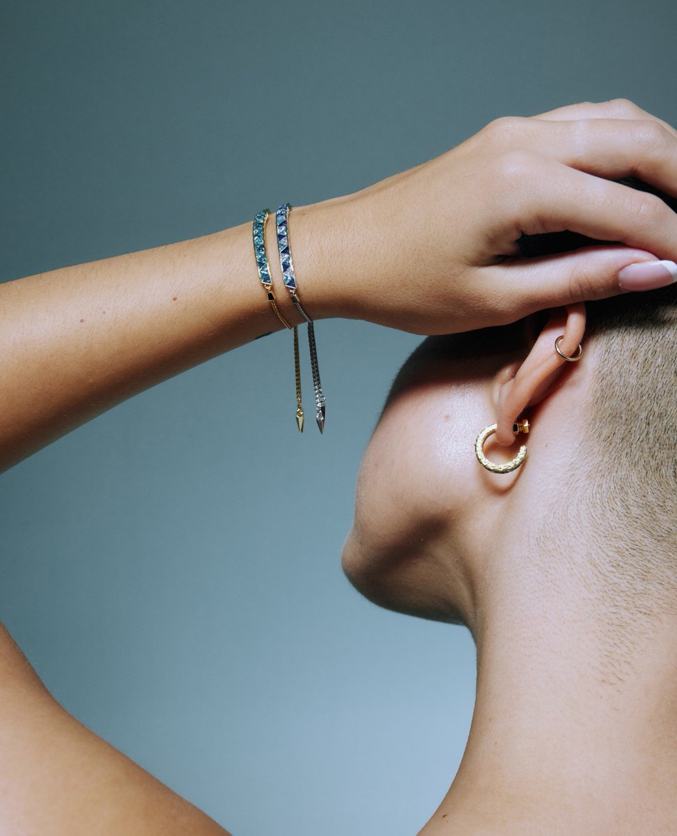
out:
{"label": "closely buzzed brownish hair on the head behind the ear", "polygon": [[[571,248],[599,243],[578,239]],[[532,541],[588,587],[601,681],[622,688],[634,676],[624,650],[677,612],[677,284],[586,308],[593,380],[578,451]]]}

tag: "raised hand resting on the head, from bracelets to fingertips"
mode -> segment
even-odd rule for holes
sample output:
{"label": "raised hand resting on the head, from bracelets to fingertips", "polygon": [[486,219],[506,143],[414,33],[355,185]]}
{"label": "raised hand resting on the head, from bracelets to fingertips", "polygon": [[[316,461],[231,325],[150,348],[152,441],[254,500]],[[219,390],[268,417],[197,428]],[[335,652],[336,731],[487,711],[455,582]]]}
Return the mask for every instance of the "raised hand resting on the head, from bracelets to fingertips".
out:
{"label": "raised hand resting on the head, from bracelets to fingertips", "polygon": [[[668,284],[669,265],[619,285],[631,263],[677,261],[677,214],[613,182],[625,176],[677,196],[677,132],[628,101],[496,120],[430,162],[294,210],[304,298],[316,316],[440,334]],[[520,257],[523,233],[563,230],[624,246]]]}

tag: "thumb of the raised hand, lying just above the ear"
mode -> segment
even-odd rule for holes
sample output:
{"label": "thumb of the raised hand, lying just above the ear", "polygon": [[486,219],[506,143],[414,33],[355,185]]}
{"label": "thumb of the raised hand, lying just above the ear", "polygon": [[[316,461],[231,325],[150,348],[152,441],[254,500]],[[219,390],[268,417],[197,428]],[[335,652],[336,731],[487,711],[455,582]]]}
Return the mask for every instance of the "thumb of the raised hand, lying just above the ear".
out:
{"label": "thumb of the raised hand, lying just above the ear", "polygon": [[[541,258],[516,258],[482,268],[482,285],[501,322],[511,322],[544,308],[602,299],[622,292],[618,273],[629,264],[649,264],[654,255],[628,247],[586,247]],[[677,278],[664,269],[667,285]],[[655,287],[654,283],[654,287]],[[639,288],[638,288],[639,289]]]}

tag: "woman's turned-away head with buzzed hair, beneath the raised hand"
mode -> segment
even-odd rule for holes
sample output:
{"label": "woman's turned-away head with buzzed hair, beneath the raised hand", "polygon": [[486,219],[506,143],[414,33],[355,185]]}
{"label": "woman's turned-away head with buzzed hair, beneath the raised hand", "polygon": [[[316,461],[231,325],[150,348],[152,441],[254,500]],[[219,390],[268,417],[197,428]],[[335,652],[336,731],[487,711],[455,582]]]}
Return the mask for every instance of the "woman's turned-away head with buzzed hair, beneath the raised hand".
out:
{"label": "woman's turned-away head with buzzed hair, beneath the raised hand", "polygon": [[384,606],[470,624],[499,566],[552,574],[556,560],[626,609],[674,594],[676,302],[667,288],[588,306],[583,360],[532,391],[529,455],[509,475],[484,471],[473,442],[539,340],[554,354],[557,320],[425,340],[364,456],[352,582]]}

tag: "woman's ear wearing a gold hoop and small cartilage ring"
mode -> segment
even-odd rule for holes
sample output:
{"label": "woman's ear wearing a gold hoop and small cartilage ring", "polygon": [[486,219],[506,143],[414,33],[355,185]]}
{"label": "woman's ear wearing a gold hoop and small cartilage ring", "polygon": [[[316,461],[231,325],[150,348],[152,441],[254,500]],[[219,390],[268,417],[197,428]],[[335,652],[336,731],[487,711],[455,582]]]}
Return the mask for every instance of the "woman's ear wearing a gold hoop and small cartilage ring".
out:
{"label": "woman's ear wearing a gold hoop and small cartilage ring", "polygon": [[[545,328],[538,334],[527,358],[500,382],[498,392],[498,416],[496,442],[512,444],[515,436],[512,426],[529,405],[537,404],[562,374],[566,360],[557,353],[559,349],[568,357],[575,356],[585,333],[585,305],[577,303],[567,308],[554,308]],[[514,372],[514,373],[512,373]]]}

